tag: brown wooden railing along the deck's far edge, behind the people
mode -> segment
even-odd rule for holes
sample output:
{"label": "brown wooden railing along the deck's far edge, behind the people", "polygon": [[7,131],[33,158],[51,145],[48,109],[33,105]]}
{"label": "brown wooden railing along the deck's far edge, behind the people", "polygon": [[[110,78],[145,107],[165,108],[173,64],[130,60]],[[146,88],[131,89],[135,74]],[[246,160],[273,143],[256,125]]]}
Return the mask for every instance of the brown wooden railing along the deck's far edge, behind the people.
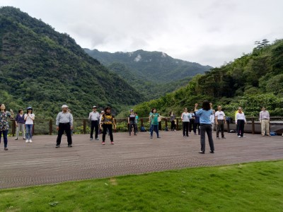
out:
{"label": "brown wooden railing along the deck's far edge, behind the people", "polygon": [[[260,125],[258,117],[247,117],[248,127],[245,126],[245,131],[248,131],[252,134],[260,133],[258,129],[258,125]],[[182,121],[180,117],[175,119],[176,130],[182,129]],[[33,125],[33,133],[34,134],[57,134],[56,126],[55,126],[55,119],[35,119]],[[127,118],[122,119],[115,119],[116,124],[120,124],[122,122],[127,123]],[[283,117],[270,117],[270,127],[277,126],[275,131],[278,133],[283,133]],[[15,120],[11,119],[10,123],[10,130],[11,134],[14,136],[16,134],[16,122]],[[81,133],[86,134],[87,128],[90,126],[90,122],[88,119],[81,119],[81,118],[74,118],[74,129],[76,130],[77,127],[80,128]],[[141,126],[146,126],[146,130],[149,130],[149,118],[148,117],[141,117],[139,118],[138,128],[140,129]],[[162,119],[159,122],[159,130],[166,130],[170,129],[171,122],[169,119]],[[231,129],[236,129],[235,123],[232,124],[227,123],[225,125],[226,131],[230,131]],[[117,129],[119,131],[119,129]]]}

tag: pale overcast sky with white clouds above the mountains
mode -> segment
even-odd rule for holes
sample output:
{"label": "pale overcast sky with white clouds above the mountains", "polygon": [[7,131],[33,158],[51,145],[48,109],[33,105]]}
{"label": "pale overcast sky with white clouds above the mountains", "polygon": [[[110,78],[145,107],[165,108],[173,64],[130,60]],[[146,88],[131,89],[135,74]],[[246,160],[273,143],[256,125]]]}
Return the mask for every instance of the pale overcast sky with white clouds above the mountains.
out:
{"label": "pale overcast sky with white clouds above the mountains", "polygon": [[103,52],[165,52],[222,66],[283,38],[282,0],[0,0]]}

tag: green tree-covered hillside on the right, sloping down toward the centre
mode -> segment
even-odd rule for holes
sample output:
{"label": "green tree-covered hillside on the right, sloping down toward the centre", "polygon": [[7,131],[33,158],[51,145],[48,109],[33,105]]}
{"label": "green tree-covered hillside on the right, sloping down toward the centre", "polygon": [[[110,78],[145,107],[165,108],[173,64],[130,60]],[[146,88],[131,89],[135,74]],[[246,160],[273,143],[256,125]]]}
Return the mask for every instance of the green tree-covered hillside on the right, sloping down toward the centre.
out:
{"label": "green tree-covered hillside on the right, sloping down toward the centre", "polygon": [[193,109],[195,102],[209,100],[222,105],[226,114],[233,117],[241,106],[246,115],[258,116],[262,106],[272,116],[283,116],[283,40],[256,42],[250,54],[244,54],[229,64],[212,69],[192,78],[184,88],[174,93],[144,102],[135,107],[141,116],[147,116],[151,107],[163,114],[183,107]]}

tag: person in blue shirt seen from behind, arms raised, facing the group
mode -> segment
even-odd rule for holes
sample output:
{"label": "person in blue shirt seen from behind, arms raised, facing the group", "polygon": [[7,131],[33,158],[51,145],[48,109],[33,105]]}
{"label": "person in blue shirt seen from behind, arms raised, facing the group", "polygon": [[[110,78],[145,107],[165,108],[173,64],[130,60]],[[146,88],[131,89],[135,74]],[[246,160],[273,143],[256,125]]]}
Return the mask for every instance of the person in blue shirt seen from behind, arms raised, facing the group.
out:
{"label": "person in blue shirt seen from behind, arms raised, facing the group", "polygon": [[212,111],[212,103],[205,100],[202,102],[202,109],[197,110],[198,104],[195,103],[195,114],[196,116],[200,117],[200,146],[201,151],[199,153],[205,153],[205,133],[208,136],[208,142],[210,151],[209,153],[214,153],[214,143],[212,139],[212,122],[211,122],[211,115],[213,114]]}

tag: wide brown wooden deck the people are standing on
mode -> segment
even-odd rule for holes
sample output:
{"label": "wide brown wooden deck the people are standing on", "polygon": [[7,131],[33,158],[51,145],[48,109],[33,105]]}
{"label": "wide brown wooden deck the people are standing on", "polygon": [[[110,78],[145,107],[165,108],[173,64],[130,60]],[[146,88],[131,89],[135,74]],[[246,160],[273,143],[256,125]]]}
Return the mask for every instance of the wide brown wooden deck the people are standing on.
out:
{"label": "wide brown wooden deck the people are standing on", "polygon": [[[90,141],[89,134],[74,135],[73,148],[63,136],[55,148],[57,136],[34,136],[33,143],[8,138],[8,151],[0,144],[0,189],[54,184],[70,180],[140,174],[185,167],[228,165],[260,160],[283,159],[283,136],[225,134],[214,139],[215,153],[199,154],[200,136],[184,138],[181,131],[162,131],[161,139],[149,139],[149,133],[137,136],[114,134],[105,146]],[[215,137],[215,132],[214,132]]]}

